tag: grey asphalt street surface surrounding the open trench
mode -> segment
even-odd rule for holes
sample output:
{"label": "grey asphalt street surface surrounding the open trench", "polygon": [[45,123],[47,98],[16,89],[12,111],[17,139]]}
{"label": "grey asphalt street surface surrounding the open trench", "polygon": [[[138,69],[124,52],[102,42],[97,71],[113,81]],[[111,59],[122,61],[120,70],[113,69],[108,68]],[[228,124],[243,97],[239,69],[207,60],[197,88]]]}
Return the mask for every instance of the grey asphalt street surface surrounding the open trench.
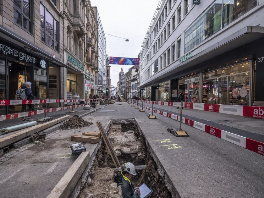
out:
{"label": "grey asphalt street surface surrounding the open trench", "polygon": [[[182,198],[263,196],[263,156],[185,124],[182,128],[190,137],[175,137],[166,129],[179,127],[178,121],[158,114],[157,119],[148,119],[147,112],[118,102],[85,116],[94,123],[88,129],[57,130],[45,146],[26,145],[0,164],[1,193],[7,198],[46,197],[74,162],[70,135],[98,131],[97,120],[104,126],[109,119],[135,118],[149,152],[173,183],[173,193],[176,189]],[[177,146],[171,149],[167,144]],[[91,156],[96,145],[85,147]]]}

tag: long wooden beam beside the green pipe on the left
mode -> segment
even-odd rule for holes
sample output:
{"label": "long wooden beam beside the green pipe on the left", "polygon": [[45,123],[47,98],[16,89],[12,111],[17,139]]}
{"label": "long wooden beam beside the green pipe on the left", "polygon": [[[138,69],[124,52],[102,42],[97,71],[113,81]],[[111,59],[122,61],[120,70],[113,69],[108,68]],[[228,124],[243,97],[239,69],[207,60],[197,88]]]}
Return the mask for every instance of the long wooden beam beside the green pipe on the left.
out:
{"label": "long wooden beam beside the green pipe on the left", "polygon": [[34,134],[35,131],[40,132],[40,131],[47,129],[51,126],[54,126],[55,124],[63,122],[64,120],[67,120],[69,118],[70,118],[69,115],[63,116],[61,118],[57,118],[55,120],[51,120],[51,121],[43,123],[43,124],[37,124],[35,126],[29,127],[23,131],[18,132],[18,133],[3,137],[0,139],[0,148],[8,146],[8,145],[10,145],[10,144],[12,144],[18,140],[23,139],[23,138],[26,138],[26,137],[30,136],[31,134]]}

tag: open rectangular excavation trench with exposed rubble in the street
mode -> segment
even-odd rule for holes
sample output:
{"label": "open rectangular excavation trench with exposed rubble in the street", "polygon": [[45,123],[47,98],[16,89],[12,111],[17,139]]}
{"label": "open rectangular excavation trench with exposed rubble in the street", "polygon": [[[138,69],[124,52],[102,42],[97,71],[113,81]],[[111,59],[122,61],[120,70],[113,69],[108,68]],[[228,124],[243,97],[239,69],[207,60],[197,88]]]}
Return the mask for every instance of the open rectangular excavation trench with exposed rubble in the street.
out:
{"label": "open rectangular excavation trench with exposed rubble in the street", "polygon": [[[132,182],[135,186],[147,184],[153,193],[149,197],[172,197],[162,167],[157,166],[146,144],[145,137],[135,119],[113,119],[107,131],[110,142],[121,164],[132,162],[134,165],[148,165],[145,170],[137,170]],[[119,198],[121,188],[114,182],[114,163],[103,142],[82,189],[80,198]]]}

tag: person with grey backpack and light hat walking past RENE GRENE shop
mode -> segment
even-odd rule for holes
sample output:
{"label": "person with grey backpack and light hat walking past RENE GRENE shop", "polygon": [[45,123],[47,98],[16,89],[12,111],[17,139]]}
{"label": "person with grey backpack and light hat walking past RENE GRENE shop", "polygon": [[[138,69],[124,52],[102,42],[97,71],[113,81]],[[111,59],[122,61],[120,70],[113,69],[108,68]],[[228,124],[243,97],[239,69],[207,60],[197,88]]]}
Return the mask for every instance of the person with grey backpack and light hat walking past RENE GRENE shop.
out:
{"label": "person with grey backpack and light hat walking past RENE GRENE shop", "polygon": [[[31,82],[25,82],[21,85],[21,89],[16,91],[18,100],[32,100],[32,90],[31,90]],[[22,104],[21,113],[26,111],[26,104]],[[28,111],[32,111],[32,104],[28,104]],[[27,120],[33,120],[30,116],[27,117]],[[21,118],[21,121],[26,121],[25,117]]]}

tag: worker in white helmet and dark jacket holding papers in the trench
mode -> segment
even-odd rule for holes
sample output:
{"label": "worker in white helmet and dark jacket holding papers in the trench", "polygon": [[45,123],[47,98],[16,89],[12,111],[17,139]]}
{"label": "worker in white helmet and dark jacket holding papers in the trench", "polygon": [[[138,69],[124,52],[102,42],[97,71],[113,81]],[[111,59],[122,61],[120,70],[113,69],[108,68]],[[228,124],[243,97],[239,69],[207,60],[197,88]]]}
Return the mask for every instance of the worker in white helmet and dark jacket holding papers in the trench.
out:
{"label": "worker in white helmet and dark jacket holding papers in the trench", "polygon": [[121,173],[115,176],[114,181],[117,186],[121,186],[123,198],[140,198],[140,190],[134,187],[131,180],[135,176],[136,168],[131,162],[124,163],[121,166]]}

